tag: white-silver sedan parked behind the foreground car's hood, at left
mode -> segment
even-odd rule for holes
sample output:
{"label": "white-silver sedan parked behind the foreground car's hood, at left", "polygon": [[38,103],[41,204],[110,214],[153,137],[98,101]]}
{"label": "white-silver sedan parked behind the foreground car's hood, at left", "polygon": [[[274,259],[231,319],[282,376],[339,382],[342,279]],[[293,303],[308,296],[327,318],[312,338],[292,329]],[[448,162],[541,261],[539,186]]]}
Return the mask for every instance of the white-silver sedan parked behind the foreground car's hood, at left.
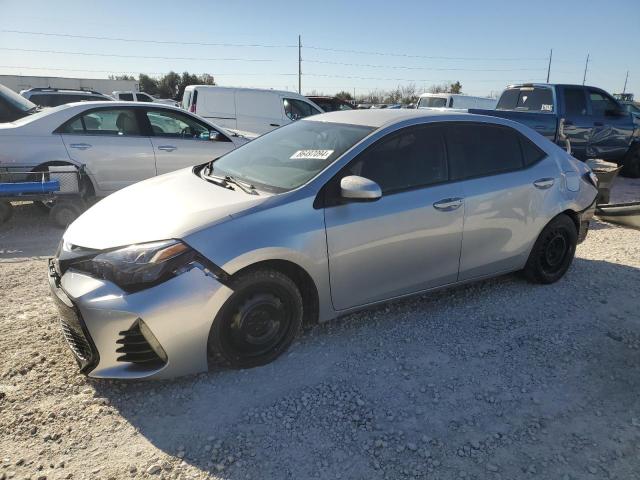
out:
{"label": "white-silver sedan parked behind the foreground car's hood, at left", "polygon": [[218,158],[248,140],[176,107],[77,102],[0,124],[0,170],[85,167],[88,196]]}

